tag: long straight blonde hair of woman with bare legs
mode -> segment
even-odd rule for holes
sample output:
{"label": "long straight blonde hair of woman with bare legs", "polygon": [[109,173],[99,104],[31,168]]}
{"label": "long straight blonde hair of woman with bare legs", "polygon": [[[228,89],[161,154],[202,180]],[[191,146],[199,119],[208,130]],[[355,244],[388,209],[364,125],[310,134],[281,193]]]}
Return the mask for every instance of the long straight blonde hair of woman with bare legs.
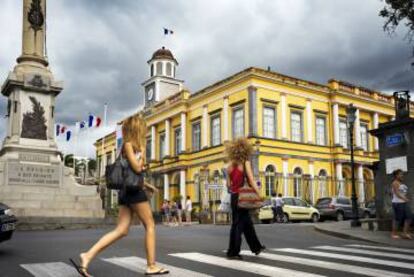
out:
{"label": "long straight blonde hair of woman with bare legs", "polygon": [[129,142],[134,151],[145,149],[147,125],[141,114],[128,117],[122,122],[122,137],[124,143]]}

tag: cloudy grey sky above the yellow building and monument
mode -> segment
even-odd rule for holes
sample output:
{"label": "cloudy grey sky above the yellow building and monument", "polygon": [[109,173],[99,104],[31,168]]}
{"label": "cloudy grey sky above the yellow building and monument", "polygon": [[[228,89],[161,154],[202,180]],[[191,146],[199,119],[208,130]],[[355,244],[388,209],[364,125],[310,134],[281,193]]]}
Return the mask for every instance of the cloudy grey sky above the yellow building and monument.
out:
{"label": "cloudy grey sky above the yellow building and monument", "polygon": [[[0,79],[21,51],[22,0],[1,0]],[[414,89],[411,47],[402,28],[382,30],[381,0],[53,0],[48,1],[50,68],[64,90],[57,121],[71,125],[89,113],[109,127],[82,135],[78,155],[143,102],[146,61],[161,46],[180,63],[190,91],[249,66],[306,80],[330,78],[392,92]],[[162,28],[174,30],[164,37]],[[6,99],[0,102],[5,114]],[[4,136],[5,120],[0,121]],[[63,150],[73,144],[60,143]]]}

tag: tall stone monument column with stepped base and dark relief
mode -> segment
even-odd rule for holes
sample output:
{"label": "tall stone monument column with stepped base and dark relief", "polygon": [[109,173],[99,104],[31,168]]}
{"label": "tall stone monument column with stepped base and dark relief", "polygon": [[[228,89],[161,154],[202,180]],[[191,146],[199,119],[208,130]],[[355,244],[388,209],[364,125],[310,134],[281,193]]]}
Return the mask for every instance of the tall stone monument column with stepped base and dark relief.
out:
{"label": "tall stone monument column with stepped base and dark relief", "polygon": [[104,214],[96,187],[76,183],[55,141],[55,98],[63,86],[48,67],[45,22],[46,0],[23,0],[22,53],[1,87],[8,126],[0,150],[0,201],[20,224],[73,225]]}

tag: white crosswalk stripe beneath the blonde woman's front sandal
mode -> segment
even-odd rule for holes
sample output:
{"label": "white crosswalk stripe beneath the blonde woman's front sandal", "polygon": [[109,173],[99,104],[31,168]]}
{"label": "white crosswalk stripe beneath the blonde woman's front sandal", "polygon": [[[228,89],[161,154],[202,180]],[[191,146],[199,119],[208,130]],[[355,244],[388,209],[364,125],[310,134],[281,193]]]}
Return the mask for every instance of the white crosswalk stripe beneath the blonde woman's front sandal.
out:
{"label": "white crosswalk stripe beneath the blonde woman's front sandal", "polygon": [[[135,256],[131,257],[114,257],[109,259],[102,259],[105,262],[112,263],[117,266],[121,266],[123,268],[129,269],[134,272],[138,273],[145,273],[147,268],[147,260]],[[187,270],[183,268],[178,268],[175,266],[157,263],[158,266],[168,269],[170,274],[168,276],[194,276],[194,277],[211,277],[211,275],[199,273],[192,270]]]}

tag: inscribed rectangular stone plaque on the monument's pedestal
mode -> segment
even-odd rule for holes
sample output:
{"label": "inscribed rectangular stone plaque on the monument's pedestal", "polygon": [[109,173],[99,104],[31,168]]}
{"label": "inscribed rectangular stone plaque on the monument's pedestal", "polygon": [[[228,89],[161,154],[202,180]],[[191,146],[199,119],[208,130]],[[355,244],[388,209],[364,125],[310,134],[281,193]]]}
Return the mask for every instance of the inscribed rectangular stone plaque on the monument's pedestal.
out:
{"label": "inscribed rectangular stone plaque on the monument's pedestal", "polygon": [[11,186],[58,187],[60,185],[60,166],[8,163],[7,183]]}

